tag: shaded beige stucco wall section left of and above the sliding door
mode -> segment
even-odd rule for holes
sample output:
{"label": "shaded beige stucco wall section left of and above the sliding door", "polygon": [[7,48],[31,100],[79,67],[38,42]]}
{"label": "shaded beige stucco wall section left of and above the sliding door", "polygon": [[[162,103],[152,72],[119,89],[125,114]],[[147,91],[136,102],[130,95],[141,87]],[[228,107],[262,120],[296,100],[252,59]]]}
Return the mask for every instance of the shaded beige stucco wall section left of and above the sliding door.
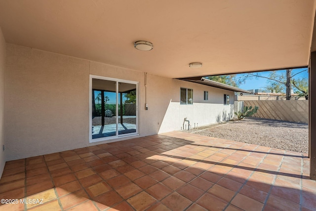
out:
{"label": "shaded beige stucco wall section left of and above the sliding door", "polygon": [[7,160],[93,145],[88,141],[90,74],[140,77],[137,71],[7,44]]}

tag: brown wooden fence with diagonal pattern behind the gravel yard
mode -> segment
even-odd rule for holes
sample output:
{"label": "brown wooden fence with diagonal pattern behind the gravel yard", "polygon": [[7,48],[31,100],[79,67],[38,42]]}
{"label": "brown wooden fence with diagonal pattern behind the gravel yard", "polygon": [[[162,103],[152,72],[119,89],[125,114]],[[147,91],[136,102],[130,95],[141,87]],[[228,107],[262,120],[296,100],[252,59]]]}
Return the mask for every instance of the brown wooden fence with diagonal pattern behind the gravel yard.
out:
{"label": "brown wooden fence with diagonal pattern behind the gravel yard", "polygon": [[244,106],[258,106],[253,117],[308,124],[308,100],[245,100]]}

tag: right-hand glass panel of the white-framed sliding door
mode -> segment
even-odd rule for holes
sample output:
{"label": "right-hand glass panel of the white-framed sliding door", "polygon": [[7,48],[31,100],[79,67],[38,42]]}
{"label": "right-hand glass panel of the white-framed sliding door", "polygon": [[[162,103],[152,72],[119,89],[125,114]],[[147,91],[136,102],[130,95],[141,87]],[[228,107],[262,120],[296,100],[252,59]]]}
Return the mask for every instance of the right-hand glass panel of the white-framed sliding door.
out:
{"label": "right-hand glass panel of the white-framed sliding door", "polygon": [[118,134],[136,133],[136,84],[118,83]]}

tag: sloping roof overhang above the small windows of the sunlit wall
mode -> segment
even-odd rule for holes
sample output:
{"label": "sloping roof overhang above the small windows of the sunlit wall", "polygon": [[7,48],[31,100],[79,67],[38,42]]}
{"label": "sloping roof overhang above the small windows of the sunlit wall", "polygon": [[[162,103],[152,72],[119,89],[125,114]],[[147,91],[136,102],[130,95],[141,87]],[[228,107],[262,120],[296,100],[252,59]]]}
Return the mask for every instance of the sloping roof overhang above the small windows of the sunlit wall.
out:
{"label": "sloping roof overhang above the small windows of the sunlit wall", "polygon": [[222,89],[226,89],[226,90],[230,90],[230,91],[237,91],[237,92],[243,92],[243,93],[249,93],[249,94],[251,93],[250,91],[247,91],[247,90],[235,87],[235,86],[215,82],[215,81],[203,78],[203,77],[202,78],[200,78],[200,77],[184,78],[184,79],[180,79],[180,80],[187,81],[187,82],[193,82],[193,83],[197,83],[197,84],[213,86],[216,88],[222,88]]}

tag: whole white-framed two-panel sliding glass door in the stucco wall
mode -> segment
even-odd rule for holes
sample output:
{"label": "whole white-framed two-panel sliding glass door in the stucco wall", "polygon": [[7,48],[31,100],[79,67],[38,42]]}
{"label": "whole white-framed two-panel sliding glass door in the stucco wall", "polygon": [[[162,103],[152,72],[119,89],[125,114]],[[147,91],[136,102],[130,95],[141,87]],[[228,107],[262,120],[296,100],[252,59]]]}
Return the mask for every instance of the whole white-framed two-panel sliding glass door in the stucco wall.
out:
{"label": "whole white-framed two-panel sliding glass door in the stucco wall", "polygon": [[137,134],[137,82],[90,76],[90,93],[90,142]]}

